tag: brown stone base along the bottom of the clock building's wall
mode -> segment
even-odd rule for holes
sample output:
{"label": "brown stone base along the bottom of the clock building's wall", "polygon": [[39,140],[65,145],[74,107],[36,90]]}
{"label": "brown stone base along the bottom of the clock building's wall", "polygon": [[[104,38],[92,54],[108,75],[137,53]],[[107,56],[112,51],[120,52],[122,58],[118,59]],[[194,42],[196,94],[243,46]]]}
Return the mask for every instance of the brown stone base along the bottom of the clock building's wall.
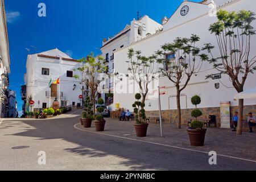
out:
{"label": "brown stone base along the bottom of the clock building's wall", "polygon": [[[182,125],[187,125],[186,119],[191,118],[192,110],[194,110],[194,109],[182,109],[181,110],[181,124]],[[200,110],[203,112],[203,116],[201,118],[208,119],[209,115],[216,115],[217,127],[220,127],[220,125],[221,125],[220,107],[200,108]],[[256,110],[256,105],[244,106],[243,114],[246,115],[247,113],[250,112],[250,110]],[[232,115],[236,111],[238,111],[238,106],[230,107],[230,113],[232,113]],[[159,111],[158,110],[157,111],[146,111],[146,115],[158,116]],[[172,124],[177,123],[177,110],[163,110],[162,115],[163,115],[163,122],[172,123]],[[232,115],[230,117],[232,117]],[[245,117],[244,117],[244,119],[245,119]]]}

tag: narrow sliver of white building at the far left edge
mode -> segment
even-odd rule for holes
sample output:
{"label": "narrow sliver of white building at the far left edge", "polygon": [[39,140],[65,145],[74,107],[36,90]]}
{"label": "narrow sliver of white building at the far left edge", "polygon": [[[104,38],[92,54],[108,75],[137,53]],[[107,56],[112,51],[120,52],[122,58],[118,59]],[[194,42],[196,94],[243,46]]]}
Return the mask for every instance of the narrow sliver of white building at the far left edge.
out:
{"label": "narrow sliver of white building at the far left edge", "polygon": [[8,106],[7,87],[9,86],[10,55],[7,35],[5,6],[0,0],[0,117],[6,117],[6,106]]}

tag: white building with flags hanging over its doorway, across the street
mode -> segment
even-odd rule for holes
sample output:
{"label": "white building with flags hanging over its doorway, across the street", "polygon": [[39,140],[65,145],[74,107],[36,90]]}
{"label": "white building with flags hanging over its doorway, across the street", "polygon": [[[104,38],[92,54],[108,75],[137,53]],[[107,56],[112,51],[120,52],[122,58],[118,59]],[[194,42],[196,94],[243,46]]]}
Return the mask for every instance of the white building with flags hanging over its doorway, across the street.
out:
{"label": "white building with flags hanging over its doorway, across the street", "polygon": [[[81,67],[81,64],[57,48],[28,55],[24,74],[25,85],[22,86],[23,110],[28,110],[30,97],[35,102],[32,110],[52,107],[53,101],[56,99],[59,101],[59,98],[61,106],[81,104],[79,96],[84,87],[81,81],[73,77],[80,75],[80,72],[74,69]],[[60,78],[59,85],[53,84],[57,78]],[[51,93],[50,80],[52,80]]]}

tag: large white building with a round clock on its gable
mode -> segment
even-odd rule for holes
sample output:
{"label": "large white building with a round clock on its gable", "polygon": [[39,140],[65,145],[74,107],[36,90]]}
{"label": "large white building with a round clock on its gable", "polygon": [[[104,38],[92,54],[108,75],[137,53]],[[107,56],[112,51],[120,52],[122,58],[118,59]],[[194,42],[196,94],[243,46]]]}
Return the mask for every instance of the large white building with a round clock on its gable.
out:
{"label": "large white building with a round clock on its gable", "polygon": [[[256,4],[249,0],[215,0],[217,10],[225,9],[228,11],[250,10],[256,12]],[[210,16],[209,11],[212,9],[212,1],[202,1],[200,3],[184,1],[181,3],[174,14],[163,24],[163,31],[154,35],[150,35],[147,38],[138,40],[128,46],[114,51],[115,64],[114,69],[119,73],[127,74],[128,64],[127,52],[129,48],[133,48],[135,51],[142,51],[142,55],[150,56],[155,51],[160,49],[165,43],[171,43],[177,37],[190,37],[191,34],[200,36],[200,42],[198,47],[204,47],[205,43],[212,43],[216,48],[213,51],[214,55],[219,55],[218,46],[216,43],[216,37],[208,31],[209,25],[216,22],[216,16]],[[182,9],[182,10],[181,10]],[[185,11],[184,11],[185,10]],[[256,28],[256,21],[253,22],[253,27]],[[251,40],[251,55],[255,56],[256,50],[256,36],[253,36]],[[189,85],[182,92],[181,96],[181,109],[183,109],[183,121],[191,110],[195,108],[191,104],[191,97],[195,94],[201,96],[201,104],[199,107],[204,110],[204,115],[214,114],[220,118],[220,102],[230,101],[232,105],[232,111],[237,110],[238,101],[234,101],[233,96],[236,94],[236,90],[233,88],[229,77],[222,75],[219,80],[205,80],[205,76],[219,73],[216,69],[212,68],[209,63],[204,63],[200,73],[195,77],[193,76]],[[250,75],[247,78],[245,84],[245,90],[256,86],[256,75]],[[118,82],[119,80],[115,80]],[[124,83],[126,84],[126,83]],[[218,86],[216,86],[218,85]],[[225,86],[224,86],[225,85]],[[162,96],[162,109],[166,116],[164,119],[167,122],[176,122],[176,88],[175,85],[168,80],[168,78],[160,78],[160,86],[166,86],[167,94]],[[128,86],[129,87],[129,86]],[[132,104],[134,102],[133,94],[114,94],[114,104],[119,104],[119,107],[125,109],[133,109]],[[245,112],[249,109],[256,108],[256,100],[245,100]],[[146,101],[146,110],[151,114],[158,114],[158,101]],[[186,114],[187,113],[187,114]],[[184,117],[185,115],[185,117]]]}

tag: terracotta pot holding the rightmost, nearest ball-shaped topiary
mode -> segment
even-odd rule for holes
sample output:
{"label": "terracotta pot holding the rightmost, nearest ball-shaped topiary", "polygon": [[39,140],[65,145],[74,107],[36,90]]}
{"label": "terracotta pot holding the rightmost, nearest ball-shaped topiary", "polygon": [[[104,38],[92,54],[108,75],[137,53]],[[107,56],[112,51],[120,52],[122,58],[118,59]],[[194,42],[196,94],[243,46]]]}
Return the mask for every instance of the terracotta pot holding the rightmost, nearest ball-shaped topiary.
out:
{"label": "terracotta pot holding the rightmost, nearest ball-shaped topiary", "polygon": [[191,146],[204,146],[204,139],[207,129],[195,130],[190,127],[187,129]]}

